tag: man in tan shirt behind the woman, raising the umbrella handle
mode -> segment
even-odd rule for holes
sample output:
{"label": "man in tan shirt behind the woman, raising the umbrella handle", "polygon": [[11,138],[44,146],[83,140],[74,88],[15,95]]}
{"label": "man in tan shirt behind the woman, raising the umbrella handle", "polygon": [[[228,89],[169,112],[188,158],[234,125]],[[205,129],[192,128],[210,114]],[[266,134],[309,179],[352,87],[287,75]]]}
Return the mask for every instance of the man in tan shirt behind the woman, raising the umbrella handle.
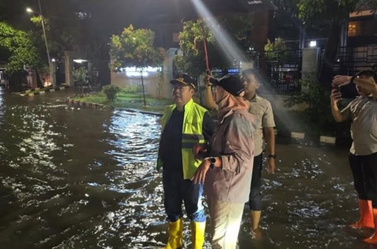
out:
{"label": "man in tan shirt behind the woman, raising the umbrella handle", "polygon": [[[264,142],[267,143],[266,151],[268,153],[267,160],[267,172],[275,172],[275,121],[274,115],[271,107],[271,103],[258,96],[256,90],[259,88],[260,84],[258,81],[258,72],[254,69],[247,69],[242,72],[241,80],[243,81],[245,87],[245,99],[250,101],[249,112],[254,115],[255,118],[255,130],[254,143],[254,165],[253,165],[253,176],[251,180],[251,188],[249,195],[249,207],[250,215],[252,218],[252,237],[259,239],[261,237],[261,232],[259,229],[259,222],[261,219],[262,211],[262,195],[261,195],[261,175],[262,175],[262,164],[263,155],[262,152],[265,149]],[[213,101],[211,84],[209,83],[209,76],[205,79],[206,92],[205,92],[205,105],[209,108],[216,109],[217,106]],[[265,140],[264,140],[265,138]]]}

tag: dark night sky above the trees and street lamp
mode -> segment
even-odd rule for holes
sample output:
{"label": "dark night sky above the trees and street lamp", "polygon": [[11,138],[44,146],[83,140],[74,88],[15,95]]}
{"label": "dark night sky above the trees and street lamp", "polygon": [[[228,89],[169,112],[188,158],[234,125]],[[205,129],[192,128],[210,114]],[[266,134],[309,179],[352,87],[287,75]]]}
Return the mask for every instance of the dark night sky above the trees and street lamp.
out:
{"label": "dark night sky above the trees and street lamp", "polygon": [[[112,34],[119,34],[124,27],[133,24],[135,28],[151,28],[156,35],[170,36],[166,23],[178,23],[174,31],[180,31],[180,19],[195,13],[190,0],[40,0],[44,16],[64,16],[74,18],[77,11],[86,11],[91,17],[85,20],[85,33],[97,42],[108,42]],[[211,11],[248,5],[247,0],[203,0],[210,2]],[[242,2],[237,4],[237,2]],[[228,5],[231,4],[231,5]],[[9,9],[5,18],[0,12],[0,20],[12,19],[18,26],[27,29],[30,25],[25,8],[38,9],[37,0],[0,0],[1,7]],[[182,7],[183,6],[183,7]],[[249,6],[248,6],[249,7]],[[241,11],[246,8],[242,7]],[[232,10],[230,10],[232,11]],[[238,12],[238,10],[235,10]],[[164,15],[165,14],[165,15]],[[195,15],[195,14],[194,14]],[[168,16],[168,18],[166,18]],[[172,21],[173,20],[173,21]],[[25,28],[26,27],[26,28]],[[161,34],[162,33],[162,34]],[[166,37],[170,39],[170,37]]]}

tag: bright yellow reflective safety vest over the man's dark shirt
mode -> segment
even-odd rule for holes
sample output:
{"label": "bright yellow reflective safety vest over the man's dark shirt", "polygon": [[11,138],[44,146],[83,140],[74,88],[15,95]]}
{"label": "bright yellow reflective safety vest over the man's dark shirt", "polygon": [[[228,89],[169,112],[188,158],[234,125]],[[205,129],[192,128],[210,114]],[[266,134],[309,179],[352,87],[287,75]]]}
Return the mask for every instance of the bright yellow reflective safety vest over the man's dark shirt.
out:
{"label": "bright yellow reflective safety vest over the man's dark shirt", "polygon": [[[161,134],[164,132],[165,126],[175,108],[175,104],[166,107],[164,115],[161,118]],[[185,105],[182,128],[182,166],[184,179],[190,179],[194,175],[196,168],[198,168],[202,162],[196,162],[194,160],[192,148],[195,144],[205,143],[202,127],[204,114],[206,112],[207,110],[205,108],[194,103],[192,99]],[[158,155],[157,170],[162,166],[160,155]]]}

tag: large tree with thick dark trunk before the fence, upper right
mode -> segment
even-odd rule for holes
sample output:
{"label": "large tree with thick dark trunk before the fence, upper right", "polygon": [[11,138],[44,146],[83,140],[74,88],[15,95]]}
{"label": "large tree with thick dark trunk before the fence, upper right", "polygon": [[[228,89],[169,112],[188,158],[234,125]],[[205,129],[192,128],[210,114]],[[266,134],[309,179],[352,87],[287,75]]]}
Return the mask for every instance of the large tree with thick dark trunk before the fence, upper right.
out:
{"label": "large tree with thick dark trunk before the fence, upper right", "polygon": [[332,77],[342,24],[348,21],[350,12],[377,9],[377,0],[274,0],[274,3],[301,27],[328,23],[329,35],[320,76],[322,84],[328,83]]}

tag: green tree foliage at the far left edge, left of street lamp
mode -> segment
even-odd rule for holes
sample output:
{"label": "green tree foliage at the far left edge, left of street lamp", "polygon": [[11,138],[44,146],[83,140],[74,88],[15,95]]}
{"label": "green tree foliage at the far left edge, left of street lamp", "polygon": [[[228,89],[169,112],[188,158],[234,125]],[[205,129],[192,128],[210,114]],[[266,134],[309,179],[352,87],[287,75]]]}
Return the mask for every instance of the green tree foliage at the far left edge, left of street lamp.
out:
{"label": "green tree foliage at the far left edge, left of street lamp", "polygon": [[35,66],[39,57],[30,36],[21,30],[0,22],[0,49],[8,61],[6,71],[16,73],[24,65]]}

